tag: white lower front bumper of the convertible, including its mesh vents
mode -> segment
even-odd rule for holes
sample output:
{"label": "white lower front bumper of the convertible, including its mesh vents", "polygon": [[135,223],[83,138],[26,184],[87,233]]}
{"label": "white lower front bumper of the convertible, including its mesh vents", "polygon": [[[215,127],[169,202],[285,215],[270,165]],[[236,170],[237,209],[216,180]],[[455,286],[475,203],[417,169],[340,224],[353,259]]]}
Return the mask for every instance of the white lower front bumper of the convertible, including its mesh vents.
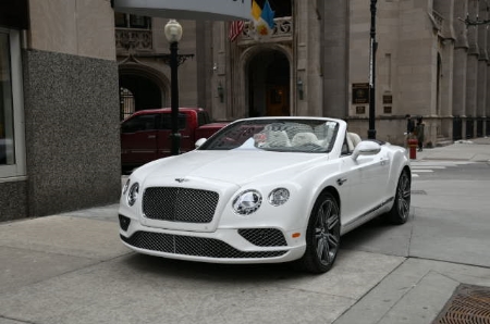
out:
{"label": "white lower front bumper of the convertible, including its mesh vents", "polygon": [[[134,251],[210,263],[279,263],[299,259],[304,239],[280,228],[217,228],[208,232],[173,230],[142,225],[120,215],[120,237]],[[304,233],[302,233],[304,236]]]}

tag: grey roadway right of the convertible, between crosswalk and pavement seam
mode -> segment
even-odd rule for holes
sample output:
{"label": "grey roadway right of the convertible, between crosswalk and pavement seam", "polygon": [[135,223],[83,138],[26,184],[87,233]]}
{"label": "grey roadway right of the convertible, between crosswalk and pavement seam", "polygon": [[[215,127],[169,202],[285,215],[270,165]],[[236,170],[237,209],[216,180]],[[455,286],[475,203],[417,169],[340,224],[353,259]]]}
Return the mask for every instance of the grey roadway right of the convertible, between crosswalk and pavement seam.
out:
{"label": "grey roadway right of the convertible, between crosswalk and pavement seam", "polygon": [[490,267],[490,164],[413,162],[412,217],[373,220],[347,234],[344,249]]}

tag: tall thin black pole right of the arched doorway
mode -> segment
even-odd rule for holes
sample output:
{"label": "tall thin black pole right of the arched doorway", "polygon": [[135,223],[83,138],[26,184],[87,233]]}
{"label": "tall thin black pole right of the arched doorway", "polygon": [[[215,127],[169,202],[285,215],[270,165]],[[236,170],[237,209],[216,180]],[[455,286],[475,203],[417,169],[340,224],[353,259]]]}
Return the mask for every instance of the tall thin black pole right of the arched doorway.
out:
{"label": "tall thin black pole right of the arched doorway", "polygon": [[376,42],[376,2],[371,0],[371,33],[370,33],[370,47],[369,47],[369,129],[368,138],[376,139],[376,50],[378,42]]}

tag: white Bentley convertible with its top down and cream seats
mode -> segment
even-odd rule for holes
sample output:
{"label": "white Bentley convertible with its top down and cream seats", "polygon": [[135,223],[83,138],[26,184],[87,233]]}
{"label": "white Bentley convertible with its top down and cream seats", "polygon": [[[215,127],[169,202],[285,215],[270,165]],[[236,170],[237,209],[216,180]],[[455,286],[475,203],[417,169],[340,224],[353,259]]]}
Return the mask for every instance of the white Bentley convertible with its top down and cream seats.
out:
{"label": "white Bentley convertible with its top down and cream seats", "polygon": [[127,179],[119,220],[128,248],[201,262],[295,261],[323,273],[343,234],[409,214],[405,149],[360,140],[342,120],[245,119],[196,146]]}

